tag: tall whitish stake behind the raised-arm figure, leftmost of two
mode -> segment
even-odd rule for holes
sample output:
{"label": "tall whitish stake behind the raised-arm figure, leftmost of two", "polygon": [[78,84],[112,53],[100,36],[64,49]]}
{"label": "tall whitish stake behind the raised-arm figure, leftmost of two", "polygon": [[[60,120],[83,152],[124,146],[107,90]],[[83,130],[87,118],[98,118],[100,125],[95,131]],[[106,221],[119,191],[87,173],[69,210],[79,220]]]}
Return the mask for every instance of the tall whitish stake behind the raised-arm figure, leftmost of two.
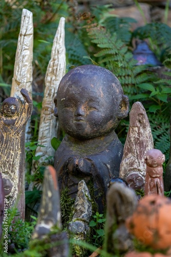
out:
{"label": "tall whitish stake behind the raised-arm figure, leftmost of two", "polygon": [[[15,54],[14,75],[11,86],[11,97],[23,100],[20,90],[25,87],[32,95],[32,61],[33,61],[33,14],[23,9],[20,31]],[[31,139],[30,119],[26,124],[26,142]]]}

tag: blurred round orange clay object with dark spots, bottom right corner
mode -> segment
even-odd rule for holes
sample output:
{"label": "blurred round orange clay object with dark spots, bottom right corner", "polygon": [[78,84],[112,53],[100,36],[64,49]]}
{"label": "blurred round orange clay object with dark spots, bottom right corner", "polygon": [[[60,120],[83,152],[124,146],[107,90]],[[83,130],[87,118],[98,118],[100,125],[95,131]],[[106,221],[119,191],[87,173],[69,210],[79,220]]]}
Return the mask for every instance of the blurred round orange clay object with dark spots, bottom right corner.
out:
{"label": "blurred round orange clay object with dark spots, bottom right corner", "polygon": [[143,197],[126,221],[126,227],[141,244],[154,249],[171,246],[171,200],[161,195]]}

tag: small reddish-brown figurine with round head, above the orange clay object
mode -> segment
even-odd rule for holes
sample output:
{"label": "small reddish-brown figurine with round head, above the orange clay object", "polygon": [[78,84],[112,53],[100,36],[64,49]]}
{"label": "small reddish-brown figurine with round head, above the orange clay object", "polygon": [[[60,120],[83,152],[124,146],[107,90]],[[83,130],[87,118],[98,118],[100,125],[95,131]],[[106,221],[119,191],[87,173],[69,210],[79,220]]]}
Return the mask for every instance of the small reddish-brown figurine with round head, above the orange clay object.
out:
{"label": "small reddish-brown figurine with round head, above the orange clay object", "polygon": [[152,149],[146,152],[146,176],[144,194],[164,195],[163,185],[163,162],[165,155],[158,149]]}

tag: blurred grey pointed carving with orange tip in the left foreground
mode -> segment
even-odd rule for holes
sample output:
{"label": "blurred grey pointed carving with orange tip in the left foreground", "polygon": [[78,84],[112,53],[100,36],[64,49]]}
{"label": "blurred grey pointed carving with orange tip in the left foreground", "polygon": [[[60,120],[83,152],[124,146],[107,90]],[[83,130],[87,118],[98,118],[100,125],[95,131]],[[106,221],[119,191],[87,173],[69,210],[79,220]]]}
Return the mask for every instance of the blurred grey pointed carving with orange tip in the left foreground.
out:
{"label": "blurred grey pointed carving with orange tip in the left foreground", "polygon": [[[55,233],[53,233],[54,226],[57,229]],[[48,235],[49,232],[51,232],[50,235]],[[40,211],[31,238],[33,247],[34,239],[45,240],[45,243],[51,244],[51,247],[46,250],[50,257],[69,256],[68,236],[66,232],[61,232],[59,189],[56,171],[52,166],[47,166],[44,175]],[[35,244],[37,245],[38,241],[35,241]]]}

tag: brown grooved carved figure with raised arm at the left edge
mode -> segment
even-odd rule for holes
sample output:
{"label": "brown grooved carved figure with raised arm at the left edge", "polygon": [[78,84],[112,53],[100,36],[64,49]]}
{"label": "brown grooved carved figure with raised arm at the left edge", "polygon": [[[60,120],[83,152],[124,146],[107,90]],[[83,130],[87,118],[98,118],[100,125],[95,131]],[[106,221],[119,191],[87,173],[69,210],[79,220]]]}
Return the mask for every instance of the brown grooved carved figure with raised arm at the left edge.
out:
{"label": "brown grooved carved figure with raised arm at the left edge", "polygon": [[[16,207],[25,217],[25,128],[33,104],[29,92],[22,89],[24,102],[9,97],[0,109],[0,172],[9,207]],[[16,202],[17,201],[17,202]]]}

